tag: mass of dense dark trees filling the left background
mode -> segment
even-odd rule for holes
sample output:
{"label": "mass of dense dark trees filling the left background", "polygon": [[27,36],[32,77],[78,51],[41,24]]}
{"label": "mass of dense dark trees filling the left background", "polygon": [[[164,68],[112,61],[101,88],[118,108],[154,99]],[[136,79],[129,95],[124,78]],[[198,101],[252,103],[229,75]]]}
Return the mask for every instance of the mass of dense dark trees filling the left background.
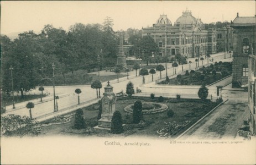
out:
{"label": "mass of dense dark trees filling the left background", "polygon": [[13,41],[1,36],[1,92],[11,94],[13,80],[14,91],[23,96],[42,81],[52,81],[53,69],[65,75],[97,68],[98,63],[101,68],[114,66],[119,34],[112,26],[107,17],[103,24],[76,23],[68,31],[45,25],[40,34],[26,31]]}

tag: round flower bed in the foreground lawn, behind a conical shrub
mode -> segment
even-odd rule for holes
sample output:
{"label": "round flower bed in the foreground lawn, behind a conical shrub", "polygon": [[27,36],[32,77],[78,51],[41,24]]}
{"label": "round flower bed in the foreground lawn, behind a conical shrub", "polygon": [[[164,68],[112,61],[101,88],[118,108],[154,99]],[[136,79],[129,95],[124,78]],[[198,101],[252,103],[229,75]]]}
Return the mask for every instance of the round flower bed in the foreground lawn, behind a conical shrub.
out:
{"label": "round flower bed in the foreground lawn, behind a conical shrub", "polygon": [[[153,102],[144,102],[142,103],[142,113],[150,114],[150,113],[158,113],[166,111],[168,106],[162,103],[153,103]],[[133,105],[126,106],[124,111],[133,113]]]}

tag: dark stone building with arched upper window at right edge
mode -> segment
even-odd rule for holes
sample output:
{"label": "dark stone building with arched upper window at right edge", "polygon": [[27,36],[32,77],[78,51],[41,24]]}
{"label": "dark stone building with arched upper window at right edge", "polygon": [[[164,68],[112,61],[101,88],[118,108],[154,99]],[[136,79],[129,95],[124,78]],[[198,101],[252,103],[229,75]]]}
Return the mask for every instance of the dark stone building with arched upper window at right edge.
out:
{"label": "dark stone building with arched upper window at right edge", "polygon": [[[237,17],[233,27],[233,78],[232,87],[240,88],[248,84],[248,58],[255,54],[255,17]],[[253,52],[254,51],[254,52]]]}

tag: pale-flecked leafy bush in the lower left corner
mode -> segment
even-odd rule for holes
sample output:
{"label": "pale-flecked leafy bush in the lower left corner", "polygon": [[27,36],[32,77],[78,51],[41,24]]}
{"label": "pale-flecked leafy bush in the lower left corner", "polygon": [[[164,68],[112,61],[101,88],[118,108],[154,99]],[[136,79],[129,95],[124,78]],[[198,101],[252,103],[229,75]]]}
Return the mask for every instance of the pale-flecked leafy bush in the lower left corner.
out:
{"label": "pale-flecked leafy bush in the lower left corner", "polygon": [[22,138],[27,134],[38,135],[40,125],[35,119],[30,119],[27,116],[8,114],[1,117],[1,130],[4,135],[18,135]]}

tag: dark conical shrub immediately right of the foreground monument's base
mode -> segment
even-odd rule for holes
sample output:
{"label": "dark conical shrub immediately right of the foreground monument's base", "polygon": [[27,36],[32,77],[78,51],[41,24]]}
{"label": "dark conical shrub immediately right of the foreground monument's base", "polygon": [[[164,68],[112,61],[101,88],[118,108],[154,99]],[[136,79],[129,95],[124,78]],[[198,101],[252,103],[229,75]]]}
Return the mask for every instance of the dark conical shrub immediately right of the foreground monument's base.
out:
{"label": "dark conical shrub immediately right of the foreground monument's base", "polygon": [[119,111],[115,111],[113,114],[110,130],[112,134],[123,133],[122,115]]}

